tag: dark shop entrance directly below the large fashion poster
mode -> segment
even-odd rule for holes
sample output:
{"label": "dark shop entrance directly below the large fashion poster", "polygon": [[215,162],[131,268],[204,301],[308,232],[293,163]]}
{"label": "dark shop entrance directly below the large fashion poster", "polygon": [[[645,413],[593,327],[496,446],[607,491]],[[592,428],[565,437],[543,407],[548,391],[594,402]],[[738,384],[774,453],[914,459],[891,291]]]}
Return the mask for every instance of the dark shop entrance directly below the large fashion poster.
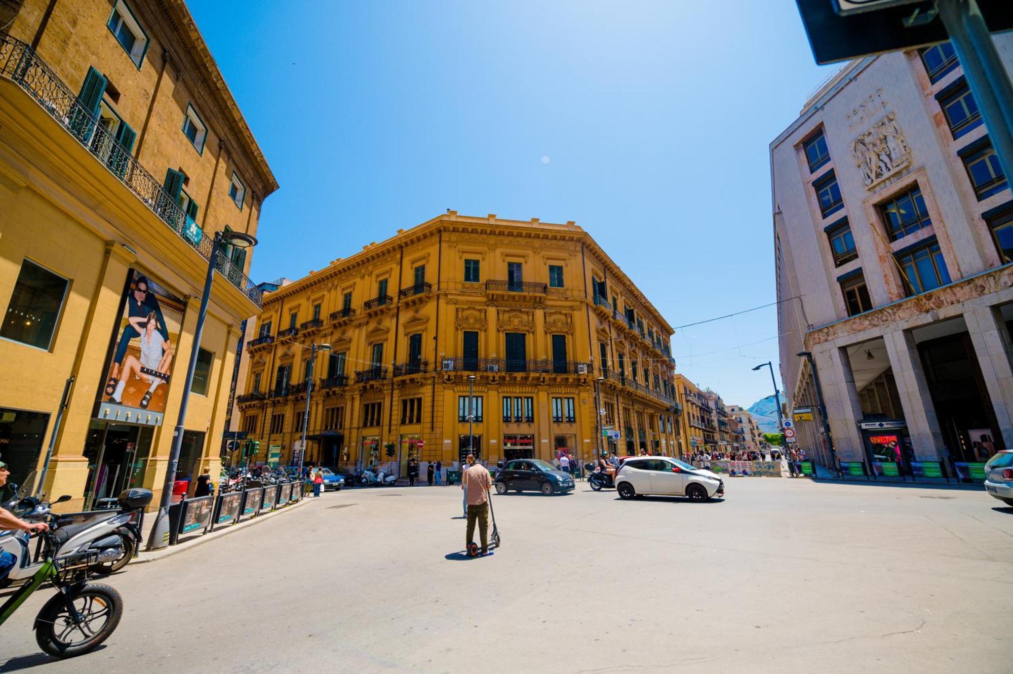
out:
{"label": "dark shop entrance directly below the large fashion poster", "polygon": [[144,486],[144,470],[154,433],[151,426],[91,422],[84,443],[84,457],[88,459],[85,510],[95,507],[98,499]]}

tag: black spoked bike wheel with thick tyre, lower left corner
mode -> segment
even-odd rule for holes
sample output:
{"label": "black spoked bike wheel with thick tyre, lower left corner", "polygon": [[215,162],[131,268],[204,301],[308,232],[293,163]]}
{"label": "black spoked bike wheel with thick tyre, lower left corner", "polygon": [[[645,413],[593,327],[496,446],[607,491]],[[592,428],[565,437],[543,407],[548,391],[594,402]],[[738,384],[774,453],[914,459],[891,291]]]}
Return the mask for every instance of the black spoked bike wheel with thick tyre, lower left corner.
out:
{"label": "black spoked bike wheel with thick tyre, lower left corner", "polygon": [[71,595],[78,624],[63,594],[50,597],[35,616],[35,642],[54,658],[73,658],[97,648],[120,624],[124,600],[108,585],[85,585]]}

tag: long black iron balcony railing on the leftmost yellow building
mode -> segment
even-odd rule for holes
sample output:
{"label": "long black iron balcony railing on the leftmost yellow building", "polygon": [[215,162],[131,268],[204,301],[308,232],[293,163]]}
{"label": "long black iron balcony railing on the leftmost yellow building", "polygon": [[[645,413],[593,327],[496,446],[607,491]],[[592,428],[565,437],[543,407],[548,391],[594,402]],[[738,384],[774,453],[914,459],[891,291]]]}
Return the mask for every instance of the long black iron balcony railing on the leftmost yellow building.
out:
{"label": "long black iron balcony railing on the leftmost yellow building", "polygon": [[[144,202],[170,230],[196,250],[205,260],[211,260],[213,237],[206,237],[192,219],[179,207],[158,180],[155,179],[131,151],[95,118],[92,110],[78,100],[77,94],[24,43],[0,33],[0,77],[14,82],[35,99],[57,122],[83,145],[116,179]],[[215,268],[250,302],[260,309],[262,290],[251,281],[240,264],[219,249]]]}

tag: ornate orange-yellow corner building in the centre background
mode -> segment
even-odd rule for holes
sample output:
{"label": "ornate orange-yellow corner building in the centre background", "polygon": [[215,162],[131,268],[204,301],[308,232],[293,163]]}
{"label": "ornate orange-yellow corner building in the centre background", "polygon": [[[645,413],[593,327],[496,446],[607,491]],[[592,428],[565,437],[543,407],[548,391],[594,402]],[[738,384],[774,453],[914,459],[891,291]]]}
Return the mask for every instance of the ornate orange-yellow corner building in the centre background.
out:
{"label": "ornate orange-yellow corner building in the centre background", "polygon": [[266,296],[241,429],[257,459],[296,459],[310,345],[326,343],[306,461],[403,476],[411,457],[449,469],[469,450],[678,453],[671,333],[573,223],[450,212]]}

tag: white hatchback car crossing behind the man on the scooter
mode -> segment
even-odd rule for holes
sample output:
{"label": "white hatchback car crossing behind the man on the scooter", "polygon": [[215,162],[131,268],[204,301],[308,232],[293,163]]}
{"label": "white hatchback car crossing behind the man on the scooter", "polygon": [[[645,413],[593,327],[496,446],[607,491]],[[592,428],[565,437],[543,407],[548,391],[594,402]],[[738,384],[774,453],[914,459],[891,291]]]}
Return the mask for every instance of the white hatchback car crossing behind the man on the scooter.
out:
{"label": "white hatchback car crossing behind the man on the scooter", "polygon": [[654,494],[686,496],[692,501],[706,501],[724,496],[724,483],[705,469],[669,456],[627,458],[616,475],[619,498]]}

